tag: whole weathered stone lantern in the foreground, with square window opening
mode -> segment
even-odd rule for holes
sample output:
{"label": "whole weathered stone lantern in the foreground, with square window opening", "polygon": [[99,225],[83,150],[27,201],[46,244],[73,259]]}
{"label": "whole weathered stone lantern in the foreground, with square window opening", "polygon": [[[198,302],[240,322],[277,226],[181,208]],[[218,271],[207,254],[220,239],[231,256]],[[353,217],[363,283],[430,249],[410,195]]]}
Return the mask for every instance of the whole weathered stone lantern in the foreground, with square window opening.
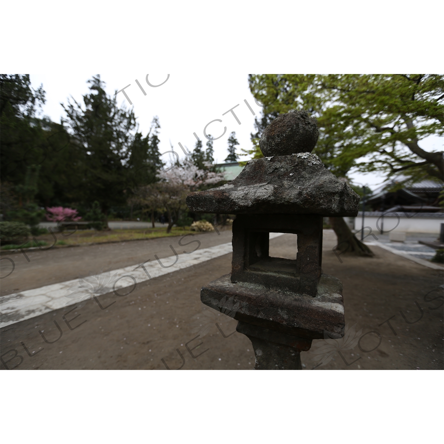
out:
{"label": "whole weathered stone lantern in the foreground, with square window opening", "polygon": [[[203,286],[201,301],[220,309],[233,297],[255,369],[301,369],[300,352],[313,339],[343,336],[342,284],[321,270],[322,218],[357,216],[359,196],[311,154],[317,138],[306,111],[281,114],[260,140],[265,157],[232,182],[186,198],[197,213],[236,214],[231,274]],[[297,234],[296,259],[270,257],[270,233]]]}

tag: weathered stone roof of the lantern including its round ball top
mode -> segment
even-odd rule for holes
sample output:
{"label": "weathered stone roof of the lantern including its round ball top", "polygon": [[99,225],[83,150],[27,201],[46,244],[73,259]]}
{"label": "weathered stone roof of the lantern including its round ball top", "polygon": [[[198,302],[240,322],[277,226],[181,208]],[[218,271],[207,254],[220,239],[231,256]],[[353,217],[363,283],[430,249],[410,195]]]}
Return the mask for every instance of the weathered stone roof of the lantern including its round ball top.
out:
{"label": "weathered stone roof of the lantern including its round ball top", "polygon": [[268,156],[250,160],[232,182],[188,194],[188,207],[196,213],[357,216],[359,195],[308,151],[317,134],[316,119],[306,111],[279,115],[260,141]]}

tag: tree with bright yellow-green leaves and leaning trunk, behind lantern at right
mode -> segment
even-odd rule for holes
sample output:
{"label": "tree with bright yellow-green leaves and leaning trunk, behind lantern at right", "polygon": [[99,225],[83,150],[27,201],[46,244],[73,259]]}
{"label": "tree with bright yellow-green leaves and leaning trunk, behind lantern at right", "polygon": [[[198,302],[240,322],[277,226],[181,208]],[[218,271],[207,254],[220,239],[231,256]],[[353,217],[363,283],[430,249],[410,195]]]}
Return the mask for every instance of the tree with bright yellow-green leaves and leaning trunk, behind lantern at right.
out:
{"label": "tree with bright yellow-green leaves and leaning trunk, behind lantern at right", "polygon": [[[428,135],[443,135],[442,75],[250,75],[249,82],[263,105],[253,142],[280,113],[305,109],[318,120],[314,152],[339,178],[352,169],[402,173],[404,182],[443,177],[443,153],[420,147]],[[342,218],[330,222],[339,250],[369,254]]]}

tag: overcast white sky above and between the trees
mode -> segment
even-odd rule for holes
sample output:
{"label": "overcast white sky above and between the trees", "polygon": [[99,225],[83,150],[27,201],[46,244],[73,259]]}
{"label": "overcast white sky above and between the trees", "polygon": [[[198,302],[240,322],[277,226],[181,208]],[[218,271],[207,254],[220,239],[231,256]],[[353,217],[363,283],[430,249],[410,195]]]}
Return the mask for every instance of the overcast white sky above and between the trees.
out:
{"label": "overcast white sky above and between the trees", "polygon": [[[31,74],[31,82],[34,88],[43,83],[46,91],[46,104],[43,114],[48,115],[53,121],[59,122],[64,116],[60,103],[67,103],[72,97],[82,102],[82,95],[88,90],[87,79],[91,79],[94,73],[84,74]],[[150,74],[148,80],[151,84],[163,83],[167,74]],[[211,123],[207,128],[207,134],[218,137],[226,127],[226,133],[214,141],[214,159],[222,163],[226,156],[227,139],[231,131],[236,132],[240,148],[251,149],[250,133],[254,131],[254,115],[246,106],[244,99],[250,104],[256,115],[261,114],[259,107],[248,87],[247,74],[171,74],[169,79],[159,87],[151,87],[146,82],[146,74],[102,74],[101,79],[106,83],[107,93],[114,95],[127,85],[125,89],[130,105],[122,92],[118,95],[119,104],[133,107],[140,131],[146,135],[149,131],[153,116],[158,115],[160,120],[160,152],[170,151],[170,142],[174,151],[181,158],[184,157],[178,143],[182,143],[190,151],[193,150],[196,139],[195,132],[202,140],[205,147],[206,140],[203,129],[207,123],[214,119],[222,122]],[[143,94],[135,80],[138,80],[146,95]],[[238,105],[233,111],[241,124],[236,121],[231,112],[226,111]],[[443,139],[430,137],[421,141],[421,147],[427,151],[443,149]],[[163,160],[170,156],[166,154]],[[241,160],[249,156],[242,156]],[[360,185],[368,185],[375,189],[384,181],[384,177],[378,174],[352,173],[353,182]]]}

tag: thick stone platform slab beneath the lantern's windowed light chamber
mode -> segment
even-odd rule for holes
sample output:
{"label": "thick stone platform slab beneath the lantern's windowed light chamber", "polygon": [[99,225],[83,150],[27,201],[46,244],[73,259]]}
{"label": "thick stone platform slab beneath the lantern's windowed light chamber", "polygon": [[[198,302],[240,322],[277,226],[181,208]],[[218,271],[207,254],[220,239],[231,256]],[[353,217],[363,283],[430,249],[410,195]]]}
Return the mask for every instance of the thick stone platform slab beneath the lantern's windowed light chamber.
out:
{"label": "thick stone platform slab beneath the lantern's windowed light chamber", "polygon": [[311,340],[323,339],[324,333],[330,338],[344,335],[342,283],[328,274],[321,275],[314,297],[260,284],[233,283],[230,274],[204,285],[200,294],[205,305],[235,312],[230,316],[240,321],[239,329],[249,329],[241,331],[249,337],[308,350]]}

